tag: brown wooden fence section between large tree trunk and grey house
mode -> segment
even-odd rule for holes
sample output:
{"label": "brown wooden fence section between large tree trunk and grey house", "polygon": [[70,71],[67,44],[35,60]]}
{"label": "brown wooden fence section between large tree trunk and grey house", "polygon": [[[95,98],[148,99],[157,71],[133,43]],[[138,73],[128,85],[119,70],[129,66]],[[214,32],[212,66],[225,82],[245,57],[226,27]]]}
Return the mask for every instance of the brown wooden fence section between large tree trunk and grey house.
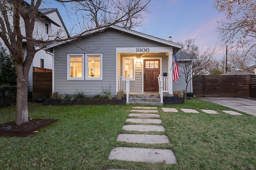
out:
{"label": "brown wooden fence section between large tree trunk and grey house", "polygon": [[33,67],[33,99],[49,98],[52,93],[52,70]]}

